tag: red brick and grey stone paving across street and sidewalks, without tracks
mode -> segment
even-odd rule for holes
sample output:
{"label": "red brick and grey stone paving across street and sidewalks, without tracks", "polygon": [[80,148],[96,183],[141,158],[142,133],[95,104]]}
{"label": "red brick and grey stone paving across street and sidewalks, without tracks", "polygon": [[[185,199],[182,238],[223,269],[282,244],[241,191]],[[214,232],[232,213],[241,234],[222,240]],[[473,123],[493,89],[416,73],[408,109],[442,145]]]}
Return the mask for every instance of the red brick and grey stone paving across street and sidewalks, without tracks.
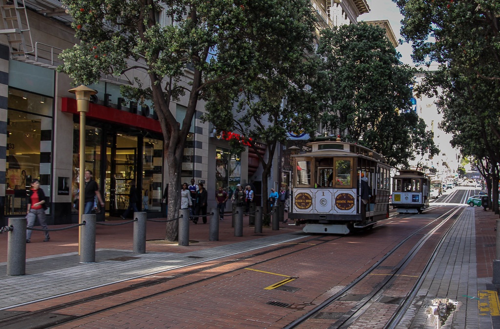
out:
{"label": "red brick and grey stone paving across street and sidewalks, without tracks", "polygon": [[[495,218],[498,216],[489,211],[483,212],[482,208],[465,209],[451,229],[449,238],[440,248],[417,297],[398,328],[435,328],[435,323],[432,323],[432,319],[425,313],[426,306],[434,298],[449,298],[459,302],[457,310],[446,320],[446,326],[449,328],[495,328],[491,316],[479,316],[478,301],[474,299],[478,290],[491,289]],[[18,306],[15,311],[33,311],[33,307],[42,309],[54,303],[60,304],[64,300],[70,302],[108,291],[106,286],[98,288],[100,285],[114,283],[113,289],[119,289],[151,278],[173,276],[184,271],[183,267],[189,266],[189,269],[200,267],[199,263],[202,261],[217,262],[218,259],[228,255],[234,255],[235,259],[239,257],[239,253],[246,253],[244,255],[249,252],[256,253],[275,244],[293,244],[296,246],[293,248],[301,248],[297,242],[303,242],[305,239],[303,234],[298,233],[300,227],[282,223],[280,231],[264,229],[264,237],[254,235],[253,228],[247,226],[244,226],[243,237],[233,237],[229,221],[219,224],[220,241],[208,241],[208,225],[191,224],[190,237],[192,236],[196,242],[190,246],[179,247],[162,241],[149,241],[146,247],[147,253],[142,255],[130,252],[132,249],[130,232],[118,227],[114,230],[121,234],[114,232],[115,234],[108,235],[106,229],[98,227],[97,247],[100,249],[97,250],[97,262],[94,264],[78,264],[74,232],[54,234],[53,238],[51,235],[54,241],[50,243],[37,242],[35,234],[39,232],[35,232],[32,243],[27,246],[27,256],[30,257],[26,265],[27,275],[5,276],[6,263],[0,263],[0,284],[3,288],[0,310],[15,305]],[[405,225],[421,224],[422,222],[415,221],[414,224],[409,222]],[[304,257],[290,255],[287,262],[271,260],[265,265],[255,266],[255,270],[298,276],[300,279],[292,281],[289,285],[300,289],[291,295],[279,290],[263,290],[263,287],[275,284],[284,279],[283,277],[254,271],[236,271],[216,280],[185,286],[160,297],[144,299],[134,303],[133,306],[123,306],[58,328],[77,326],[80,326],[79,328],[242,328],[242,325],[245,328],[282,328],[352,282],[369,268],[374,260],[387,253],[411,230],[411,227],[407,228],[408,231],[401,230],[400,223],[397,222],[387,221],[383,225],[385,226],[382,231],[376,232],[375,228],[375,232],[368,233],[372,234],[370,238],[378,237],[370,239],[369,245],[362,243],[366,239],[363,235],[350,236],[344,238],[343,241],[346,242],[342,247],[333,241],[321,249],[318,249],[320,247],[308,249],[305,251],[307,261],[303,260]],[[148,223],[147,238],[161,239],[163,227],[164,224],[161,223]],[[0,248],[5,247],[6,239],[3,238],[0,237]],[[314,243],[319,244],[319,242]],[[311,244],[313,242],[309,243]],[[345,249],[345,246],[348,249]],[[321,253],[317,250],[321,250]],[[349,250],[355,252],[348,253]],[[330,265],[324,262],[325,255],[333,257],[334,267],[333,263]],[[125,262],[110,260],[123,256],[137,258]],[[262,256],[262,259],[267,256]],[[5,261],[2,257],[4,256],[0,255],[0,261]],[[258,259],[259,256],[248,264],[253,264]],[[297,262],[302,263],[297,266]],[[314,265],[318,262],[320,266]],[[212,272],[224,273],[231,269],[229,264],[223,268],[213,269]],[[163,272],[166,270],[169,272]],[[188,279],[175,280],[185,280],[186,283],[190,283],[193,278],[202,279],[209,275],[205,272],[195,274]],[[135,279],[129,281],[131,278]],[[321,285],[312,285],[311,280]],[[406,280],[409,285],[415,278],[408,275],[401,276],[399,280]],[[177,286],[179,282],[181,281],[176,281],[175,285]],[[140,290],[140,294],[148,296],[154,290],[167,290],[165,287],[168,285],[166,282],[161,284],[161,287],[144,288]],[[97,288],[91,292],[86,290],[92,287]],[[234,303],[235,292],[241,303]],[[64,296],[64,294],[71,295]],[[85,314],[88,311],[133,300],[137,298],[137,294],[137,291],[123,293],[106,300],[105,305],[99,305],[101,301],[98,301],[67,308],[57,313]],[[392,295],[400,294],[402,292],[393,292]],[[55,302],[50,299],[53,295],[61,297]],[[44,298],[47,300],[35,305],[19,306]],[[273,300],[289,302],[292,306],[279,308],[265,305],[265,302]],[[348,300],[336,302],[323,310],[323,319],[319,317],[304,328],[328,328],[335,322],[332,319],[350,310],[355,303]],[[385,315],[391,314],[395,306],[376,304],[373,311],[369,311],[372,313],[360,317],[359,324],[352,328],[382,328],[381,324],[388,319]],[[165,310],[168,310],[168,314],[165,314]]]}

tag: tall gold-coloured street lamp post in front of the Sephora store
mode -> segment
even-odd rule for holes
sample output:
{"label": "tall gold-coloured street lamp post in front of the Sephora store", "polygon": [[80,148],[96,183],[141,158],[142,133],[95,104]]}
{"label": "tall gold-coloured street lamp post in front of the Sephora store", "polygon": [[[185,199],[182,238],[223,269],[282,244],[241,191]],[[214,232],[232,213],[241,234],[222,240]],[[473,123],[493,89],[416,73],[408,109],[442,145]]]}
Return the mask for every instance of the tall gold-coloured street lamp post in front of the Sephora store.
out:
{"label": "tall gold-coloured street lamp post in front of the Sephora store", "polygon": [[[85,208],[85,115],[88,112],[88,103],[90,96],[95,95],[97,91],[84,85],[68,90],[76,96],[76,110],[80,113],[80,163],[79,163],[79,194],[78,194],[78,223],[81,224],[81,215]],[[80,255],[81,246],[81,226],[78,227],[78,255]]]}

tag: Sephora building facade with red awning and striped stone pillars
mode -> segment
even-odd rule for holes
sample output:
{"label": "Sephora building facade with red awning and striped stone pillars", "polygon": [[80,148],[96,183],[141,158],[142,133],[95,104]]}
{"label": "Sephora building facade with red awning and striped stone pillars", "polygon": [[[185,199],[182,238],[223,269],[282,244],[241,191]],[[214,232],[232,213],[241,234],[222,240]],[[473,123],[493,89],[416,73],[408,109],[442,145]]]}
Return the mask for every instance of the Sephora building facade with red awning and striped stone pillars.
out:
{"label": "Sephora building facade with red awning and striped stone pillars", "polygon": [[[85,152],[79,154],[79,115],[68,92],[73,85],[55,70],[60,64],[57,55],[77,43],[71,17],[59,1],[23,1],[25,6],[0,2],[0,224],[25,215],[25,196],[34,178],[40,179],[47,196],[48,224],[77,222],[73,201],[80,156],[105,201],[104,209],[96,210],[98,220],[119,219],[128,206],[131,181],[141,191],[140,208],[148,217],[165,217],[168,171],[159,122],[147,104],[126,103],[119,89],[141,73],[103,76],[89,86],[97,94],[86,114]],[[191,71],[186,68],[185,74],[189,77]],[[179,123],[186,105],[181,97],[170,108]],[[200,120],[203,111],[200,102],[185,145],[182,182],[194,178],[204,183],[209,208],[216,206],[219,186],[231,194],[237,184],[252,183],[257,196],[266,195],[259,190],[262,170],[256,154],[233,154],[228,140],[237,134],[214,134],[211,125]],[[274,160],[277,163],[277,155]],[[277,177],[274,169],[270,186],[277,186]]]}

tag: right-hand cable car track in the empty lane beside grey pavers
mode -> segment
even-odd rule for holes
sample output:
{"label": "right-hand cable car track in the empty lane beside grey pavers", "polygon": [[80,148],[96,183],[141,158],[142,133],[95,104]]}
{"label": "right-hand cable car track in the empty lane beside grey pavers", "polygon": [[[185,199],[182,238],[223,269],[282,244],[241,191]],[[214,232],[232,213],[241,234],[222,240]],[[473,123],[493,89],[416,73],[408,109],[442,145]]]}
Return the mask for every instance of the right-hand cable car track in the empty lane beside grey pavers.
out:
{"label": "right-hand cable car track in the empty lane beside grey pavers", "polygon": [[[445,218],[444,220],[441,221],[441,223],[439,223],[438,225],[436,225],[432,230],[430,230],[427,234],[424,235],[424,237],[422,237],[419,242],[411,249],[411,251],[403,258],[404,262],[402,262],[401,264],[401,267],[404,265],[404,264],[407,264],[409,262],[409,260],[407,260],[406,258],[410,257],[411,254],[412,254],[412,251],[415,250],[415,248],[417,248],[417,245],[419,245],[421,243],[421,241],[423,241],[425,239],[426,236],[430,237],[430,235],[432,234],[432,232],[435,232],[438,228],[440,228],[442,225],[444,225],[444,223],[446,223],[449,219],[451,219],[452,217],[454,217],[456,215],[456,213],[459,211],[459,210],[463,210],[463,207],[460,207],[460,206],[457,206],[457,207],[453,207],[451,210],[448,210],[446,213],[444,213],[443,215],[437,217],[436,219],[434,219],[433,221],[429,222],[428,224],[426,224],[425,226],[421,227],[420,229],[416,230],[415,232],[413,232],[411,235],[407,236],[404,240],[402,240],[399,244],[397,244],[396,246],[394,246],[389,252],[387,252],[380,260],[378,260],[375,264],[373,264],[369,269],[367,269],[364,273],[362,273],[359,277],[357,277],[354,281],[352,281],[350,284],[348,284],[347,286],[345,286],[343,289],[341,289],[338,293],[334,294],[333,296],[329,297],[328,299],[326,299],[325,301],[323,301],[321,304],[319,304],[318,306],[316,306],[314,309],[308,311],[307,313],[305,313],[304,315],[302,315],[301,317],[299,317],[298,319],[296,319],[295,321],[289,323],[288,325],[286,325],[285,327],[283,327],[283,329],[293,329],[293,328],[296,328],[298,325],[300,324],[303,324],[304,322],[306,322],[307,320],[309,319],[312,319],[317,313],[319,313],[321,310],[323,310],[324,308],[328,307],[329,305],[331,305],[332,303],[338,301],[342,296],[344,296],[348,291],[352,290],[354,287],[356,287],[356,285],[358,285],[364,278],[366,278],[371,272],[373,272],[378,266],[380,266],[380,264],[385,261],[389,256],[393,255],[393,253],[398,250],[406,241],[408,241],[410,238],[414,237],[416,234],[418,234],[420,231],[424,230],[425,228],[427,228],[428,226],[434,224],[435,222],[441,220],[441,218],[447,216],[447,218]],[[456,217],[458,217],[459,215],[456,215]],[[444,239],[444,236],[443,238]],[[419,247],[420,248],[420,247]],[[418,248],[418,249],[419,249]],[[435,250],[434,250],[435,252]],[[412,257],[412,256],[411,256]],[[401,263],[400,262],[400,263]],[[398,264],[399,265],[399,264]],[[392,278],[396,278],[397,277],[397,273],[400,273],[403,269],[402,268],[396,268],[395,272],[394,270],[392,270],[392,274],[386,274],[386,278],[384,278],[383,281],[386,281],[385,284],[383,285],[380,285],[381,283],[377,284],[377,286],[375,286],[373,289],[372,289],[372,292],[370,294],[372,294],[372,296],[370,298],[365,298],[364,300],[361,300],[361,302],[359,302],[355,308],[356,311],[355,312],[352,312],[351,314],[349,314],[348,316],[346,317],[343,317],[340,318],[339,320],[337,320],[332,326],[330,326],[329,328],[347,328],[347,327],[343,327],[344,324],[351,324],[350,320],[354,317],[354,315],[356,315],[356,313],[359,311],[359,310],[362,310],[363,309],[363,306],[367,305],[367,303],[374,297],[376,296],[377,292],[379,292],[386,284],[388,284],[390,282],[390,280]],[[387,278],[389,277],[389,278]],[[383,282],[382,281],[382,282]],[[380,288],[378,289],[375,289],[377,288],[378,286],[380,286]],[[369,294],[368,294],[369,295]],[[368,296],[367,295],[367,296]],[[360,316],[360,314],[357,315],[356,318],[358,318]],[[354,319],[355,320],[355,319]],[[338,324],[339,322],[341,321],[340,324]],[[338,325],[338,326],[337,326]]]}

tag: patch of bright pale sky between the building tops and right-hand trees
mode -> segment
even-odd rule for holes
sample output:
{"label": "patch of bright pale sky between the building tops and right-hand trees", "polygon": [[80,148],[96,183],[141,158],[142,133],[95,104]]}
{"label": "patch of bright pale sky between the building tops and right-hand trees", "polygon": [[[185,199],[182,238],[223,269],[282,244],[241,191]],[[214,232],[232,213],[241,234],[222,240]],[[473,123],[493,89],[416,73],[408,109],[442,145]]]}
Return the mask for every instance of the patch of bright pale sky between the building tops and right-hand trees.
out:
{"label": "patch of bright pale sky between the building tops and right-hand trees", "polygon": [[[401,38],[399,30],[401,29],[401,19],[403,16],[399,13],[399,8],[391,0],[366,0],[370,7],[370,12],[362,14],[358,20],[380,20],[388,19],[390,27],[397,40]],[[403,43],[397,46],[397,51],[401,53],[401,61],[408,65],[413,65],[411,61],[411,46],[408,43]]]}

